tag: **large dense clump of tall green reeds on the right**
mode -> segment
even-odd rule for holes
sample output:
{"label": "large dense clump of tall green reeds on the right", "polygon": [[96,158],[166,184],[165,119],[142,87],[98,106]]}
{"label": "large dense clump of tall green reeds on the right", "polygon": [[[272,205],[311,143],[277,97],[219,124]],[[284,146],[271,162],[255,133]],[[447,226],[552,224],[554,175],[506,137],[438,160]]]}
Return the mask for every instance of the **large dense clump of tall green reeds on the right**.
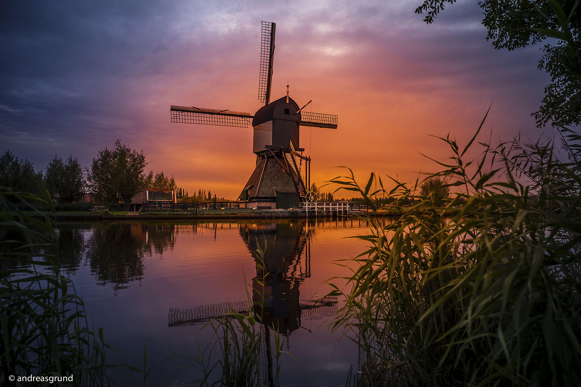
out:
{"label": "large dense clump of tall green reeds on the right", "polygon": [[[396,182],[389,196],[414,205],[371,217],[354,237],[370,247],[341,263],[332,328],[358,344],[357,385],[581,385],[581,137],[482,144],[467,162],[479,130],[464,148],[440,138],[451,157],[426,179],[446,177],[451,200]],[[374,174],[332,182],[370,204],[383,190]]]}

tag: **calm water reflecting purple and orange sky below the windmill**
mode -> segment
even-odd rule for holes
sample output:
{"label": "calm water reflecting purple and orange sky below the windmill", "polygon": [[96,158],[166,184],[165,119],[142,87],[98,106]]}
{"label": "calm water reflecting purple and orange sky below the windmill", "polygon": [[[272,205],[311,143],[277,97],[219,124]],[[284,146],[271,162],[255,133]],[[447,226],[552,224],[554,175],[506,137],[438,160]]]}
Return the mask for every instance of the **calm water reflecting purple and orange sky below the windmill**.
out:
{"label": "calm water reflecting purple and orange sky below the windmill", "polygon": [[[278,327],[285,350],[297,358],[282,355],[280,385],[339,386],[357,361],[357,347],[327,331],[340,300],[317,301],[331,290],[324,281],[348,274],[336,261],[365,249],[365,242],[346,237],[367,230],[358,220],[320,218],[68,223],[57,231],[63,274],[83,296],[89,324],[102,327],[105,341],[131,365],[142,367],[147,346],[153,368],[146,385],[198,379],[193,361],[164,359],[198,353],[198,344],[211,339],[206,322],[230,307],[256,313],[246,300],[257,300],[260,291],[263,339],[272,340],[266,326]],[[121,368],[112,377],[127,386],[142,381]]]}

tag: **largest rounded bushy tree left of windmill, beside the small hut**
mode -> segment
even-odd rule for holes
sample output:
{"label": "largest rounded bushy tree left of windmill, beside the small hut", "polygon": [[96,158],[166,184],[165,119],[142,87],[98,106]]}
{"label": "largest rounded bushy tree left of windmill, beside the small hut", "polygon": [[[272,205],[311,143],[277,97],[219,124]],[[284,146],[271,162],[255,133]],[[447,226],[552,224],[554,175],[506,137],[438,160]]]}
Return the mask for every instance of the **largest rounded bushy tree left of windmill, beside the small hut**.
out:
{"label": "largest rounded bushy tree left of windmill, beside the small hut", "polygon": [[146,165],[143,150],[137,152],[117,140],[113,149],[99,150],[87,178],[99,199],[123,203],[127,209],[131,198],[143,187]]}

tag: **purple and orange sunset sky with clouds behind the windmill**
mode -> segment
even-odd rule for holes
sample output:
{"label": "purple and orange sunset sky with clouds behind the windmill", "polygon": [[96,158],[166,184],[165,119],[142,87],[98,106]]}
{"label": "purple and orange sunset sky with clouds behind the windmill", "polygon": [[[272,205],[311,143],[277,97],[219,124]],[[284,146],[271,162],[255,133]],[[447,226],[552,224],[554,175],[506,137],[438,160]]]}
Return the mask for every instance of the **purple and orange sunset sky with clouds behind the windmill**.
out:
{"label": "purple and orange sunset sky with clouds behind the windmill", "polygon": [[3,1],[0,152],[37,170],[55,154],[89,166],[120,139],[178,187],[236,198],[254,170],[252,128],[171,123],[169,110],[256,112],[261,21],[277,23],[271,100],[288,83],[299,106],[339,116],[336,130],[300,130],[318,185],[340,166],[361,184],[371,172],[415,181],[437,170],[422,153],[451,155],[433,136],[466,144],[489,107],[481,141],[551,136],[530,117],[550,81],[540,46],[494,49],[476,1],[431,25],[420,3]]}

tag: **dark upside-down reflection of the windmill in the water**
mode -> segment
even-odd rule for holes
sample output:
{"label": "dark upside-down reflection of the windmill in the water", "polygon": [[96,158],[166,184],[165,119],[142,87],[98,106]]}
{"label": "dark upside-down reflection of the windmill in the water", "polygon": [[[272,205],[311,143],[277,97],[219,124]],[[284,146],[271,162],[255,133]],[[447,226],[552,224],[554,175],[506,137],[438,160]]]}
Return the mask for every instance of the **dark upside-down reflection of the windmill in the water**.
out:
{"label": "dark upside-down reflection of the windmill in the water", "polygon": [[283,335],[301,327],[302,319],[334,316],[336,299],[301,299],[300,284],[311,277],[310,244],[315,228],[302,220],[285,223],[239,225],[240,236],[256,264],[252,279],[252,305],[248,301],[170,309],[169,326],[192,325],[236,313],[254,314],[268,328]]}

